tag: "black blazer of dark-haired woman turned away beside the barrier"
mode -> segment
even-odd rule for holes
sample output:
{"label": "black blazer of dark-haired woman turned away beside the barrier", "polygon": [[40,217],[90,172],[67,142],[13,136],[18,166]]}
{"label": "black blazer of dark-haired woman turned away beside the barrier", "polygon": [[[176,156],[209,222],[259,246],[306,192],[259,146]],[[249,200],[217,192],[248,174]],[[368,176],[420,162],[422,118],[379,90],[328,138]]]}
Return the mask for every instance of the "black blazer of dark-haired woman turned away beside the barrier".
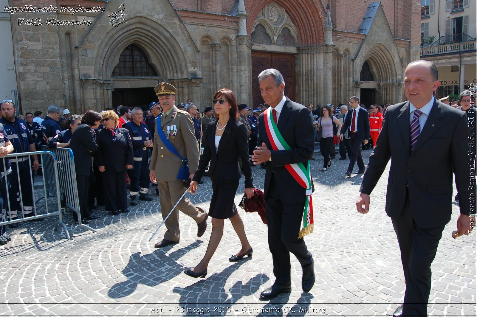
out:
{"label": "black blazer of dark-haired woman turned away beside the barrier", "polygon": [[71,135],[70,149],[73,151],[76,174],[91,175],[91,152],[96,152],[98,145],[88,124],[80,124],[74,130]]}

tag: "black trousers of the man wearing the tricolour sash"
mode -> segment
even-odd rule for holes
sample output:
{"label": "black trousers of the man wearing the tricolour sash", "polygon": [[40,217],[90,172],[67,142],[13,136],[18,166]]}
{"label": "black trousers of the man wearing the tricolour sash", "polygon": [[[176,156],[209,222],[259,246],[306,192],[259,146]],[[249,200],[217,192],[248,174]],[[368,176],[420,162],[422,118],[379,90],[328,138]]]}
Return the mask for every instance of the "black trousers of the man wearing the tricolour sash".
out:
{"label": "black trousers of the man wearing the tricolour sash", "polygon": [[272,176],[265,197],[265,208],[273,274],[275,283],[280,285],[290,285],[290,252],[297,257],[301,267],[310,265],[312,261],[305,241],[298,238],[304,207],[304,201],[296,205],[283,205]]}

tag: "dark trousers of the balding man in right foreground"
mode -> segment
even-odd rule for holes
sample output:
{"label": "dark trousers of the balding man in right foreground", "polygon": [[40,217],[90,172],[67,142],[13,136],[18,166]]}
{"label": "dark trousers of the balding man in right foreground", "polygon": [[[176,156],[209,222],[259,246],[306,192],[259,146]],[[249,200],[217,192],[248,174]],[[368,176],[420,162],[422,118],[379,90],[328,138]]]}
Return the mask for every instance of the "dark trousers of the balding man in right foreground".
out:
{"label": "dark trousers of the balding man in right foreground", "polygon": [[431,229],[417,226],[411,214],[409,193],[406,193],[403,212],[391,220],[401,249],[406,281],[403,314],[427,316],[427,302],[431,292],[431,264],[436,257],[444,226]]}

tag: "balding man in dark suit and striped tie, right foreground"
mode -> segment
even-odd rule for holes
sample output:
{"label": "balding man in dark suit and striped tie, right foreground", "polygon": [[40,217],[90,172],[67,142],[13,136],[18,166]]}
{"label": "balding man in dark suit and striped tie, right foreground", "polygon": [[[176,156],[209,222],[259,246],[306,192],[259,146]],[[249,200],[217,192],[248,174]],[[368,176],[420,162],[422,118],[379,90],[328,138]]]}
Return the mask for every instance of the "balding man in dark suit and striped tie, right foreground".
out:
{"label": "balding man in dark suit and striped tie, right foreground", "polygon": [[436,66],[430,61],[407,66],[408,101],[387,108],[356,201],[358,212],[368,213],[369,194],[391,158],[386,213],[397,235],[406,282],[404,304],[393,316],[427,316],[431,264],[452,211],[452,172],[460,201],[466,202],[460,205],[458,235],[471,230],[470,197],[475,189],[465,189],[470,176],[465,115],[434,98],[437,78]]}

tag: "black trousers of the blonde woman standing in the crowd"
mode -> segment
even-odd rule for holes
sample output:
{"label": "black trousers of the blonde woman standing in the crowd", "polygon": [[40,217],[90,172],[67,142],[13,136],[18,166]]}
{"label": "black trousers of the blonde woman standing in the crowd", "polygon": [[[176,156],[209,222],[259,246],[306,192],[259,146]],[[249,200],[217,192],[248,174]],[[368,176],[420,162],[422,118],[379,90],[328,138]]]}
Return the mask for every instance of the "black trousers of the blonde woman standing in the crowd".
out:
{"label": "black trousers of the blonde woman standing in the crowd", "polygon": [[106,211],[126,210],[126,171],[104,170],[103,185]]}

